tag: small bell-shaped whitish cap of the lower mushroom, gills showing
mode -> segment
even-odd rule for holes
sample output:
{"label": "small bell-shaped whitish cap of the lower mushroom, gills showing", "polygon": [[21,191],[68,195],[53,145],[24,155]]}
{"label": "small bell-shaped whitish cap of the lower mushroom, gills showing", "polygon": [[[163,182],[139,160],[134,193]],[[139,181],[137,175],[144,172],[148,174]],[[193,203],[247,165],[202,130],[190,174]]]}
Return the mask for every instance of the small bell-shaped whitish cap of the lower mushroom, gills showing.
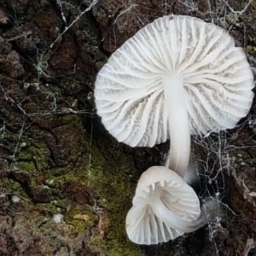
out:
{"label": "small bell-shaped whitish cap of the lower mushroom, gills showing", "polygon": [[[159,205],[153,205],[154,196],[173,214],[186,221],[196,220],[200,216],[200,202],[193,188],[172,170],[152,166],[142,173],[126,217],[126,232],[134,243],[163,243],[184,234],[157,216],[154,207]],[[179,221],[173,221],[179,225]]]}

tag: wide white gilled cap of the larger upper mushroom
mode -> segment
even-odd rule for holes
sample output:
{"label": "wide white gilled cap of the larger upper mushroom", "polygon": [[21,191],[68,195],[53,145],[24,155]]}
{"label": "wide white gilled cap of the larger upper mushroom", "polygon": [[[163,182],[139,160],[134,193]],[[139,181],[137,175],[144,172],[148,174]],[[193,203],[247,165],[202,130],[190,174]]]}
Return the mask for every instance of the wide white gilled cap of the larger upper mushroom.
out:
{"label": "wide white gilled cap of the larger upper mushroom", "polygon": [[152,147],[169,138],[172,102],[163,79],[170,74],[183,79],[191,134],[231,129],[252,105],[252,70],[234,39],[195,17],[164,16],[127,40],[97,75],[97,113],[118,141]]}

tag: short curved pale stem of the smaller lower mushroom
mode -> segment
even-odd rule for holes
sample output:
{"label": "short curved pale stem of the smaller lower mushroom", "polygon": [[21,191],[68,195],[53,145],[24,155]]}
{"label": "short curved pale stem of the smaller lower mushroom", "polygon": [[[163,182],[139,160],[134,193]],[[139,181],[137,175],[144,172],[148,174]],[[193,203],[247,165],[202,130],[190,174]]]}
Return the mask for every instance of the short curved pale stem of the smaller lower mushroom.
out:
{"label": "short curved pale stem of the smaller lower mushroom", "polygon": [[209,221],[204,211],[201,212],[196,220],[186,220],[178,216],[163,204],[157,194],[150,196],[150,205],[156,216],[168,227],[175,228],[185,233],[195,232]]}

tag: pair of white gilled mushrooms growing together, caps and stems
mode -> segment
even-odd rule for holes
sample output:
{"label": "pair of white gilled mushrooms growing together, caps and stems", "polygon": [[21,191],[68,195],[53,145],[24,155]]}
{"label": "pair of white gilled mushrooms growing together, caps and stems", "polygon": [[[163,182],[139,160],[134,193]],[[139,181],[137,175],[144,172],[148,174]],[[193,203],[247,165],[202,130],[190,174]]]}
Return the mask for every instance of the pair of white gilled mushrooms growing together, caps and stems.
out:
{"label": "pair of white gilled mushrooms growing together, caps and stems", "polygon": [[94,93],[106,129],[131,147],[171,141],[166,166],[149,168],[138,182],[126,219],[134,243],[175,239],[209,221],[184,181],[191,134],[234,128],[252,106],[253,87],[243,49],[195,17],[156,19],[112,54]]}

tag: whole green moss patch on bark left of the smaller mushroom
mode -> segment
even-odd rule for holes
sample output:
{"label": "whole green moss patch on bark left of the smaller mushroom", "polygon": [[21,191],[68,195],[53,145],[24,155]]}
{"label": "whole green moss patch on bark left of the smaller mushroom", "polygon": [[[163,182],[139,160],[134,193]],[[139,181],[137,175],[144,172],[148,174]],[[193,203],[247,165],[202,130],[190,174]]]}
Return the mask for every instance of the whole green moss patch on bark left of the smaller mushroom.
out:
{"label": "whole green moss patch on bark left of the smaller mushroom", "polygon": [[[102,255],[140,255],[138,246],[129,242],[125,234],[125,216],[131,207],[135,189],[132,176],[128,174],[132,171],[131,160],[110,151],[104,152],[104,155],[115,155],[115,162],[106,160],[95,141],[91,143],[78,116],[66,115],[61,120],[63,125],[52,132],[65,138],[65,145],[72,148],[68,160],[70,163],[66,167],[50,168],[49,149],[44,143],[33,139],[20,142],[19,158],[15,164],[18,170],[29,175],[27,181],[31,193],[46,189],[51,202],[33,205],[19,182],[13,180],[6,179],[4,188],[9,192],[15,191],[18,196],[26,196],[30,207],[44,212],[45,216],[49,216],[49,221],[52,214],[61,212],[67,225],[73,227],[74,234],[93,228],[95,236],[90,237],[89,245]],[[97,207],[102,212],[96,215],[89,205],[75,205],[66,214],[70,202],[63,195],[63,184],[70,181],[77,181],[92,189],[98,198]]]}

